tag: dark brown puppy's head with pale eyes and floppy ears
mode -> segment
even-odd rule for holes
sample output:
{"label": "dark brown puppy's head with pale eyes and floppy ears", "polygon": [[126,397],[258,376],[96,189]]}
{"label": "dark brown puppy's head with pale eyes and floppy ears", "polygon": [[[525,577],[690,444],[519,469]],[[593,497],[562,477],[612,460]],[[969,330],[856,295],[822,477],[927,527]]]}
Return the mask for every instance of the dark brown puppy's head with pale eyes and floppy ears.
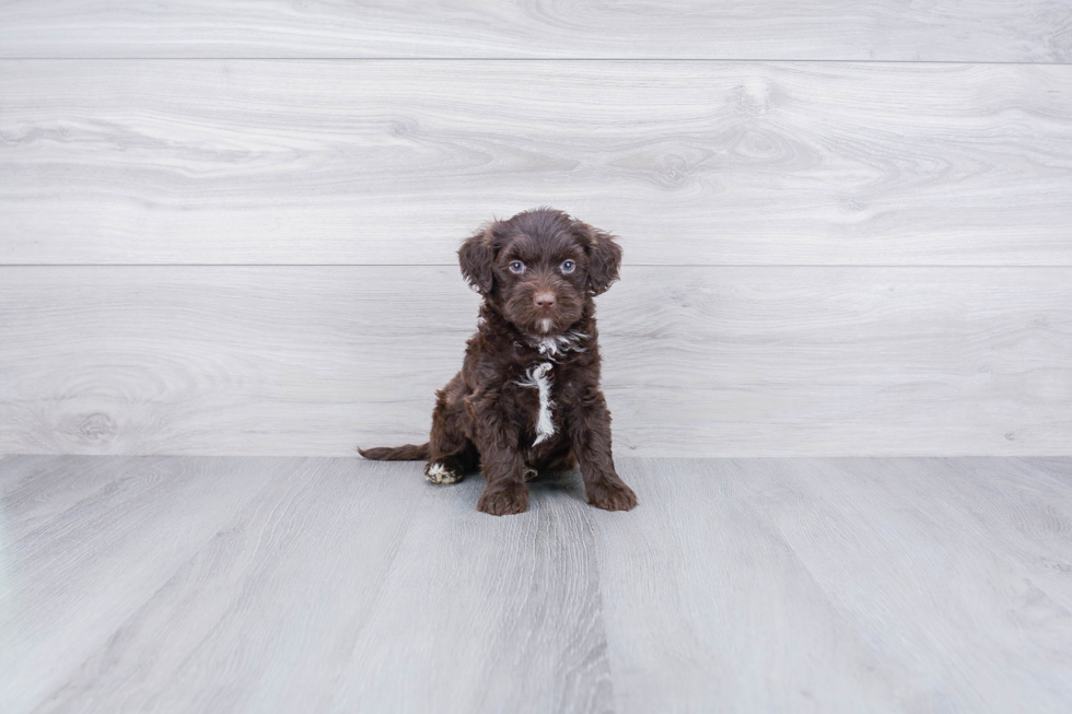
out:
{"label": "dark brown puppy's head with pale eyes and floppy ears", "polygon": [[618,279],[614,236],[539,208],[496,221],[458,250],[462,274],[492,308],[536,337],[567,330]]}

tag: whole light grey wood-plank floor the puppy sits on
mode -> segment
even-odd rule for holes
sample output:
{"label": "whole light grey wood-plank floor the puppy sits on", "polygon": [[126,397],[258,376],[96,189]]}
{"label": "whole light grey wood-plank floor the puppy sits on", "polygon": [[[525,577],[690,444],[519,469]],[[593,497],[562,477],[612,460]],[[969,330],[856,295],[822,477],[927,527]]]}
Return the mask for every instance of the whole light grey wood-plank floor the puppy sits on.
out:
{"label": "whole light grey wood-plank floor the puppy sits on", "polygon": [[1067,712],[1072,459],[0,457],[0,710]]}

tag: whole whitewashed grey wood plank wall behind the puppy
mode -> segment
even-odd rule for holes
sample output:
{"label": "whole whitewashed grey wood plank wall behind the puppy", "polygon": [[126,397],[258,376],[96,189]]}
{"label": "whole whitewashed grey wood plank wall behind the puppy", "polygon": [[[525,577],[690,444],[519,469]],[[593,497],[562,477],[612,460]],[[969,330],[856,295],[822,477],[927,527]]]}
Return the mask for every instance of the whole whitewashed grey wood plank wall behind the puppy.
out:
{"label": "whole whitewashed grey wood plank wall behind the puppy", "polygon": [[421,440],[486,220],[621,453],[1072,453],[1064,2],[0,4],[0,452]]}

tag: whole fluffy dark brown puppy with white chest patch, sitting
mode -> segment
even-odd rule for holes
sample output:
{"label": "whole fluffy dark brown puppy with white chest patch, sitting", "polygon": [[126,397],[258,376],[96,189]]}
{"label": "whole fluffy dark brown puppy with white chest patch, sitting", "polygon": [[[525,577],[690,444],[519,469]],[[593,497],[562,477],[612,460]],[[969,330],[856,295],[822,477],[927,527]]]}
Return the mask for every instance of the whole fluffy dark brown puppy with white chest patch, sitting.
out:
{"label": "whole fluffy dark brown puppy with white chest patch, sitting", "polygon": [[458,259],[483,303],[462,371],[435,393],[430,441],[358,450],[427,459],[433,483],[479,468],[487,488],[477,507],[497,516],[528,507],[525,481],[538,470],[578,465],[589,503],[632,508],[637,495],[610,453],[593,301],[618,279],[614,236],[539,208],[481,229]]}

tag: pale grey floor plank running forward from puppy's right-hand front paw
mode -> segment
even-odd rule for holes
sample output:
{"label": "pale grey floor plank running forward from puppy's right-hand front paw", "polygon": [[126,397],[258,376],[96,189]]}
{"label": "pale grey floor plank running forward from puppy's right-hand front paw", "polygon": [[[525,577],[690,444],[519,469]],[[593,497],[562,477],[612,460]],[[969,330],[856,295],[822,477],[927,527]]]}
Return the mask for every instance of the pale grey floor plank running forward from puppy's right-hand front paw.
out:
{"label": "pale grey floor plank running forward from puppy's right-hand front paw", "polygon": [[592,519],[619,711],[905,711],[899,663],[762,522],[746,478],[720,460],[618,461],[640,505]]}

